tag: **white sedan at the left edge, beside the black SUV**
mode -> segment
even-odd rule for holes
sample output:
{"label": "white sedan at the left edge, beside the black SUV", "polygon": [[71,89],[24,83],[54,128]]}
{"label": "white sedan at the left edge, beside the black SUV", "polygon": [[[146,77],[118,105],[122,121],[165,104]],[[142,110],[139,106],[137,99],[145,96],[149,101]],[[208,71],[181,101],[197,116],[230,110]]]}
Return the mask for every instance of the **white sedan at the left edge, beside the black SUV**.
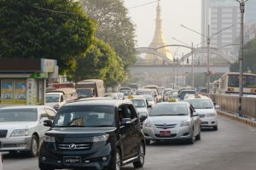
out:
{"label": "white sedan at the left edge, beside the black SUV", "polygon": [[9,106],[0,109],[0,151],[26,151],[38,156],[38,146],[56,111],[45,105]]}

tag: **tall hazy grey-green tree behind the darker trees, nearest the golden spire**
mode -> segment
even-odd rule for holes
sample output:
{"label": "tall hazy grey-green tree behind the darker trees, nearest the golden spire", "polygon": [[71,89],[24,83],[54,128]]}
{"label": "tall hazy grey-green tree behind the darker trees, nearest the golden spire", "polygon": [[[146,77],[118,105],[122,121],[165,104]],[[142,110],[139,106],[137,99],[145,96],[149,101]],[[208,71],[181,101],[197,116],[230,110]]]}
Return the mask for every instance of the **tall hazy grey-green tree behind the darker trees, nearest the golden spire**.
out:
{"label": "tall hazy grey-green tree behind the darker trees, nearest the golden spire", "polygon": [[135,28],[123,0],[80,0],[86,14],[96,20],[96,37],[108,42],[123,59],[125,71],[135,63]]}

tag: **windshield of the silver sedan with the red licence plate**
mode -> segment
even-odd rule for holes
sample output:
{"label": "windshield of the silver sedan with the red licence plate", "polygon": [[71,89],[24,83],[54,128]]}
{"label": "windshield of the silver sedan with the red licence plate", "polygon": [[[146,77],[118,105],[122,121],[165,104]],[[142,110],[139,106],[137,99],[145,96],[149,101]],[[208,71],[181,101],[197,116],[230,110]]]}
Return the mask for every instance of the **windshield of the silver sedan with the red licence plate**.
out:
{"label": "windshield of the silver sedan with the red licence plate", "polygon": [[186,116],[188,114],[185,104],[161,104],[155,105],[149,116]]}

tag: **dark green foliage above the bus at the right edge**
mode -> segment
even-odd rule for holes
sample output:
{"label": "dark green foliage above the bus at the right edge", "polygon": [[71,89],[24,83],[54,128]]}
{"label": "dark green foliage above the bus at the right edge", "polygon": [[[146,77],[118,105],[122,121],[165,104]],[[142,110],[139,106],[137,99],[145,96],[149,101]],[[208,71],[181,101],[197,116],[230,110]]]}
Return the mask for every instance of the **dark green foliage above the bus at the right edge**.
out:
{"label": "dark green foliage above the bus at the right edge", "polygon": [[[243,50],[243,70],[256,73],[256,38],[247,42]],[[239,72],[239,61],[230,66],[230,71]]]}

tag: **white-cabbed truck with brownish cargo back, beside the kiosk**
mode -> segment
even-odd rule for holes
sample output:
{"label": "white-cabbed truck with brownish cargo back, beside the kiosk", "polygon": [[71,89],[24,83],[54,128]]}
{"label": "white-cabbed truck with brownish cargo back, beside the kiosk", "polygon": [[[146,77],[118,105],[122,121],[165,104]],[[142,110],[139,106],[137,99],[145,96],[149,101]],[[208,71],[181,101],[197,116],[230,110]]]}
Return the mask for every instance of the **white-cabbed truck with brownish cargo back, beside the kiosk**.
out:
{"label": "white-cabbed truck with brownish cargo back, beside the kiosk", "polygon": [[75,88],[57,88],[45,94],[46,103],[58,111],[67,102],[78,99]]}

